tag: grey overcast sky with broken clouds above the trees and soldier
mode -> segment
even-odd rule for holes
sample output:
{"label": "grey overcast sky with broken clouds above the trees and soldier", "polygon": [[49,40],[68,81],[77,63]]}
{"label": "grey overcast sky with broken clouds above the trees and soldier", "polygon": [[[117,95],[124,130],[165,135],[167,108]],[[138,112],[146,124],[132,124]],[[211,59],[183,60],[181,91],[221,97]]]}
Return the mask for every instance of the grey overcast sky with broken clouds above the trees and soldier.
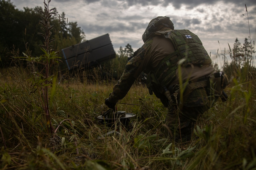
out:
{"label": "grey overcast sky with broken clouds above the trees and soldier", "polygon": [[[44,7],[43,0],[11,2],[20,10]],[[221,64],[219,57],[216,59],[217,50],[224,54],[226,48],[229,58],[228,43],[232,48],[236,38],[243,44],[244,38],[250,35],[245,4],[253,45],[256,0],[52,0],[50,8],[65,12],[70,22],[77,21],[87,40],[108,33],[116,52],[127,43],[134,51],[140,48],[142,34],[151,19],[167,16],[175,29],[188,29],[198,35],[209,55],[211,52],[212,60]]]}

